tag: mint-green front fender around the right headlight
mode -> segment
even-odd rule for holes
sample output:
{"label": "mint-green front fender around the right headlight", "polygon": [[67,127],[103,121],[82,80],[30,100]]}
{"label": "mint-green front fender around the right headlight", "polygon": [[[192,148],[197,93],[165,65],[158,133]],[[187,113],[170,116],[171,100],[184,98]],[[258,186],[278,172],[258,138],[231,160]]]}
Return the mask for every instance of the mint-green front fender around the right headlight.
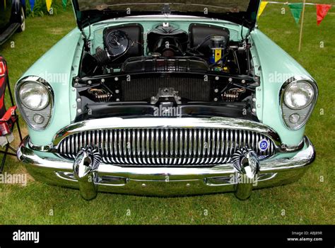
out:
{"label": "mint-green front fender around the right headlight", "polygon": [[[291,77],[311,77],[293,57],[276,45],[260,30],[251,33],[254,60],[258,60],[261,86],[256,91],[257,117],[276,130],[283,144],[295,146],[302,142],[305,126],[290,130],[283,122],[279,95],[284,82]],[[311,77],[312,78],[312,77]]]}

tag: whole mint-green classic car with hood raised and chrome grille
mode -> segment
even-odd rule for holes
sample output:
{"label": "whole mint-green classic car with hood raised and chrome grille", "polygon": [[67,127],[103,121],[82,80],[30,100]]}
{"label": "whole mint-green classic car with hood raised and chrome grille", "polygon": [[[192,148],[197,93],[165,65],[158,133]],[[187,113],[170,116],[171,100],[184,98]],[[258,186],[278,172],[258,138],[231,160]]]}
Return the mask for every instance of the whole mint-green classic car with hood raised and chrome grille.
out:
{"label": "whole mint-green classic car with hood raised and chrome grille", "polygon": [[16,84],[18,159],[87,200],[298,180],[317,84],[257,28],[259,2],[74,0],[78,27]]}

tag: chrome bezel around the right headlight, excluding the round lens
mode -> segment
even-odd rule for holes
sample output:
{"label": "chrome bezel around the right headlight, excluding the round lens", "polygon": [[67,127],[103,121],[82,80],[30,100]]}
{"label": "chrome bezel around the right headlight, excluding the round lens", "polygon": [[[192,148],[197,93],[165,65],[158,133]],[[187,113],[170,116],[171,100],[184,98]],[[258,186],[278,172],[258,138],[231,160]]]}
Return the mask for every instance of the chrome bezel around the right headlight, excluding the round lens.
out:
{"label": "chrome bezel around the right headlight, excluding the round lens", "polygon": [[[284,100],[285,94],[287,90],[290,89],[290,86],[292,86],[293,84],[301,83],[301,82],[305,82],[307,84],[310,84],[310,86],[312,86],[312,89],[314,91],[312,100],[308,101],[306,106],[302,108],[290,107],[288,106],[288,104],[286,104],[286,101]],[[283,123],[285,123],[288,129],[299,130],[304,125],[306,125],[317,103],[317,96],[318,96],[317,83],[311,77],[295,76],[295,77],[288,79],[283,84],[283,86],[281,87],[281,91],[280,91],[280,106],[281,106],[281,113],[283,117]],[[297,115],[299,116],[298,121],[296,121],[296,123],[292,123],[290,121],[290,118],[292,117],[292,115],[295,115],[295,117],[297,117]]]}

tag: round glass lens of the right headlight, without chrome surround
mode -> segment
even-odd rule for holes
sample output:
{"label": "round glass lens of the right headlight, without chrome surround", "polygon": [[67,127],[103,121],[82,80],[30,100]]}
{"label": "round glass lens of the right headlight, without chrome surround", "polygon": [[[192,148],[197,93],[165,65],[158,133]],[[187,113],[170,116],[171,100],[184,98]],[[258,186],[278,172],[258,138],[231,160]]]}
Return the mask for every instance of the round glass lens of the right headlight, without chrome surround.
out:
{"label": "round glass lens of the right headlight, without chrome surround", "polygon": [[284,102],[292,109],[306,108],[313,98],[313,86],[307,81],[295,81],[289,84],[284,93]]}

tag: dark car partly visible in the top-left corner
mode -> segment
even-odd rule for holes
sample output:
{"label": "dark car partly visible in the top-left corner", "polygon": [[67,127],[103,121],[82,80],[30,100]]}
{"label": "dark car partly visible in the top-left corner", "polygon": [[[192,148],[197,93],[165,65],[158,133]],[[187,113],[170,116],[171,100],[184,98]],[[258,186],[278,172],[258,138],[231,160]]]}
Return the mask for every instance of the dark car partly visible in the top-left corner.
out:
{"label": "dark car partly visible in the top-left corner", "polygon": [[25,30],[25,0],[0,1],[0,45]]}

